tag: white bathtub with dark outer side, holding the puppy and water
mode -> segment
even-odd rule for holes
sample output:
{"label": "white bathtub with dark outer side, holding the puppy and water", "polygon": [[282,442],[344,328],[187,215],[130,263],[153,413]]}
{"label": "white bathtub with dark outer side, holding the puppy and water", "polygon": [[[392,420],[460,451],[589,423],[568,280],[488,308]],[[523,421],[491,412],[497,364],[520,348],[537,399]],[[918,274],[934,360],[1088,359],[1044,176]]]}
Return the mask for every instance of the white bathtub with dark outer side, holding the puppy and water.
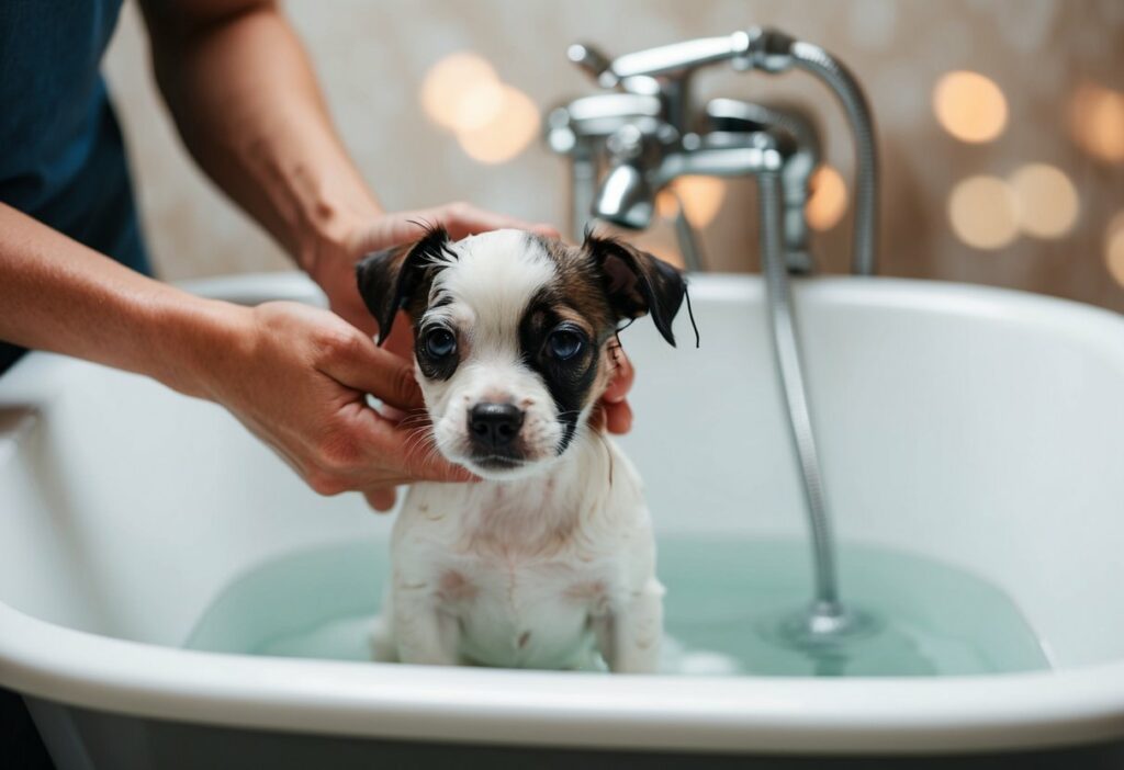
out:
{"label": "white bathtub with dark outer side, holding the puppy and water", "polygon": [[[191,288],[320,301],[284,274]],[[1124,758],[1124,320],[954,284],[796,292],[839,538],[1006,592],[1049,670],[614,677],[183,649],[247,570],[390,519],[315,495],[211,404],[34,354],[0,379],[0,685],[61,768]],[[701,348],[643,322],[624,338],[640,374],[622,443],[661,538],[803,537],[762,285],[699,276],[691,296]]]}

